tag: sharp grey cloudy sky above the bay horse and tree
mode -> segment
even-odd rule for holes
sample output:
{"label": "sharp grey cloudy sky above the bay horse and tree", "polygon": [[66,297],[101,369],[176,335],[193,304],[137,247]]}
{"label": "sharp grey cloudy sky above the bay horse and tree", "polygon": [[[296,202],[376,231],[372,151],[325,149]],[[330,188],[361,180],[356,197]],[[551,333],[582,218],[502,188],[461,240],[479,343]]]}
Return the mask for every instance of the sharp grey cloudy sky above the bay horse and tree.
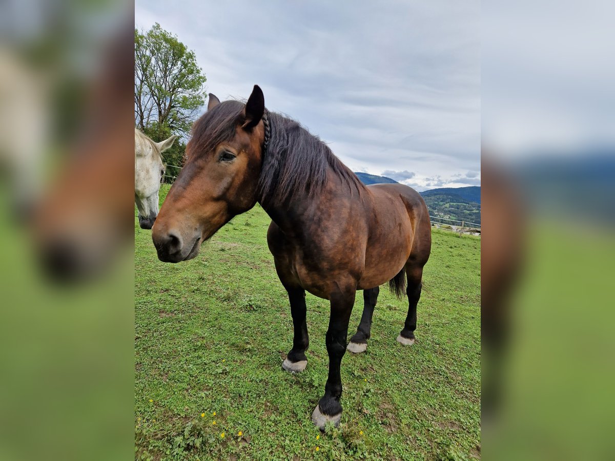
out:
{"label": "sharp grey cloudy sky above the bay horse and tree", "polygon": [[480,2],[137,0],[196,53],[207,92],[298,120],[354,171],[480,186]]}

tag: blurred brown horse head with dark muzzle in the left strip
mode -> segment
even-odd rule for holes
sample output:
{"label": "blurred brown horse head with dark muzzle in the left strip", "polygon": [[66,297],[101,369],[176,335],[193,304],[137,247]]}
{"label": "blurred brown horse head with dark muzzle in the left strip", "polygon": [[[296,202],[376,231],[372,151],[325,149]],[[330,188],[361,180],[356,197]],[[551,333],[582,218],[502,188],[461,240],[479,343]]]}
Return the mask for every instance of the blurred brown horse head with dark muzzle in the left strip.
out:
{"label": "blurred brown horse head with dark muzzle in the left strip", "polygon": [[[82,76],[76,86],[83,91],[62,100],[72,101],[66,108],[79,122],[59,149],[66,149],[66,162],[57,164],[30,221],[40,267],[56,283],[98,280],[134,254],[133,26],[109,38],[97,55],[100,72]],[[74,83],[71,69],[63,82]]]}

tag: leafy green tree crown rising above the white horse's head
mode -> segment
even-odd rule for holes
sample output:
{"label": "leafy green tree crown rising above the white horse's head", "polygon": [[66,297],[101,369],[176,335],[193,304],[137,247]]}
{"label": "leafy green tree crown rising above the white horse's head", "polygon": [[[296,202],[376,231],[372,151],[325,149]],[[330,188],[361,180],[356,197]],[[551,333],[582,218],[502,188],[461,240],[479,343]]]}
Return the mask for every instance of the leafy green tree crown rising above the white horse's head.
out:
{"label": "leafy green tree crown rising above the white horse's head", "polygon": [[189,133],[205,104],[205,81],[194,51],[177,36],[159,23],[146,33],[135,29],[135,125],[155,141]]}

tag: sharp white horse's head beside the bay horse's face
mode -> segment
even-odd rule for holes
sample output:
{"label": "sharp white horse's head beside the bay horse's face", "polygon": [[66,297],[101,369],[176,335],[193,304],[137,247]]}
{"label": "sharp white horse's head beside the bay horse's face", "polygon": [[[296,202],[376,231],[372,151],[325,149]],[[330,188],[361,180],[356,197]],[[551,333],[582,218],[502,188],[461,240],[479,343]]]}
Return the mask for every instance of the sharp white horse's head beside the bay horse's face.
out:
{"label": "sharp white horse's head beside the bay horse's face", "polygon": [[151,229],[158,216],[158,192],[165,170],[162,152],[176,138],[155,143],[135,128],[135,203],[141,229]]}

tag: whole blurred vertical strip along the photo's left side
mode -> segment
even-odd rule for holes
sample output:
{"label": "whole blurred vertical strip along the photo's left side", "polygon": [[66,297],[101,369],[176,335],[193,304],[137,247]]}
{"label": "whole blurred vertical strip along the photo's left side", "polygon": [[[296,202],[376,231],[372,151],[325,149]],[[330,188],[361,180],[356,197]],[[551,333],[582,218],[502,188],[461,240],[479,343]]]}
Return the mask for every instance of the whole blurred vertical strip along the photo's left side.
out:
{"label": "whole blurred vertical strip along the photo's left side", "polygon": [[133,18],[0,6],[0,459],[133,451]]}

